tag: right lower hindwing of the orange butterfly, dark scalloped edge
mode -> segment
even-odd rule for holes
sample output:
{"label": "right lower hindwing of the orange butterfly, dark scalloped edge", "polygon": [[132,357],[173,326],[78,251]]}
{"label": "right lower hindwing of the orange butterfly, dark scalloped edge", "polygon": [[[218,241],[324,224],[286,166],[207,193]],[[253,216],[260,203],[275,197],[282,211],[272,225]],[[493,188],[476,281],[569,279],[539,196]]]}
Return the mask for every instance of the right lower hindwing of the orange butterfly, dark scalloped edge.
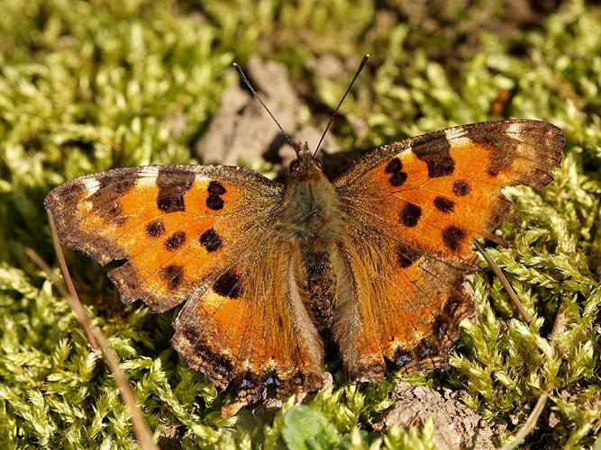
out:
{"label": "right lower hindwing of the orange butterfly, dark scalloped edge", "polygon": [[461,269],[387,238],[351,232],[335,258],[352,290],[338,293],[334,338],[359,381],[378,381],[387,363],[404,371],[444,366],[460,321],[474,312]]}

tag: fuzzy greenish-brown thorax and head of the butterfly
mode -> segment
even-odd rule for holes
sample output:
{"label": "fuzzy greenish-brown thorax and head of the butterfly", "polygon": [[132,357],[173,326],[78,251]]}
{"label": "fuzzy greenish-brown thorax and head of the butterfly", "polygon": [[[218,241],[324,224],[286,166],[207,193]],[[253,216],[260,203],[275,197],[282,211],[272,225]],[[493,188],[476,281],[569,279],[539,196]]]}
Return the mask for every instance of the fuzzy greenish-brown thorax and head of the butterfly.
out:
{"label": "fuzzy greenish-brown thorax and head of the butterfly", "polygon": [[304,249],[323,250],[341,235],[338,196],[310,154],[301,153],[291,164],[282,207],[283,236],[296,238]]}

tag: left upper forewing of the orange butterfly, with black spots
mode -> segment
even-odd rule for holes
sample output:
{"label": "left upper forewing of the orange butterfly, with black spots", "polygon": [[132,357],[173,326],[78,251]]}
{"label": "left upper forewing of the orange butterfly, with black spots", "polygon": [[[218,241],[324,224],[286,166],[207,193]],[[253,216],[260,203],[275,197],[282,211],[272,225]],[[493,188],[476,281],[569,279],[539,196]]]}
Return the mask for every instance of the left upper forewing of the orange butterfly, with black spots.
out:
{"label": "left upper forewing of the orange butterfly, with black spots", "polygon": [[280,192],[261,178],[211,166],[114,169],[59,186],[45,205],[62,244],[103,265],[127,260],[109,273],[123,302],[160,312],[256,245]]}

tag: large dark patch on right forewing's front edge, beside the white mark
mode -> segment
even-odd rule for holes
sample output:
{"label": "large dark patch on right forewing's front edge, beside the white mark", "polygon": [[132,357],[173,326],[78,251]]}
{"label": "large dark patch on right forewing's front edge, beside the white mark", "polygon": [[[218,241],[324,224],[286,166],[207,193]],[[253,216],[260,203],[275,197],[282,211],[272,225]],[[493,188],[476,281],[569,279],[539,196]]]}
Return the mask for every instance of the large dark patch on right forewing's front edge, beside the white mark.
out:
{"label": "large dark patch on right forewing's front edge, beside the white mark", "polygon": [[415,157],[428,166],[428,176],[451,175],[455,171],[455,161],[451,157],[451,144],[444,131],[434,131],[414,140],[411,147]]}

